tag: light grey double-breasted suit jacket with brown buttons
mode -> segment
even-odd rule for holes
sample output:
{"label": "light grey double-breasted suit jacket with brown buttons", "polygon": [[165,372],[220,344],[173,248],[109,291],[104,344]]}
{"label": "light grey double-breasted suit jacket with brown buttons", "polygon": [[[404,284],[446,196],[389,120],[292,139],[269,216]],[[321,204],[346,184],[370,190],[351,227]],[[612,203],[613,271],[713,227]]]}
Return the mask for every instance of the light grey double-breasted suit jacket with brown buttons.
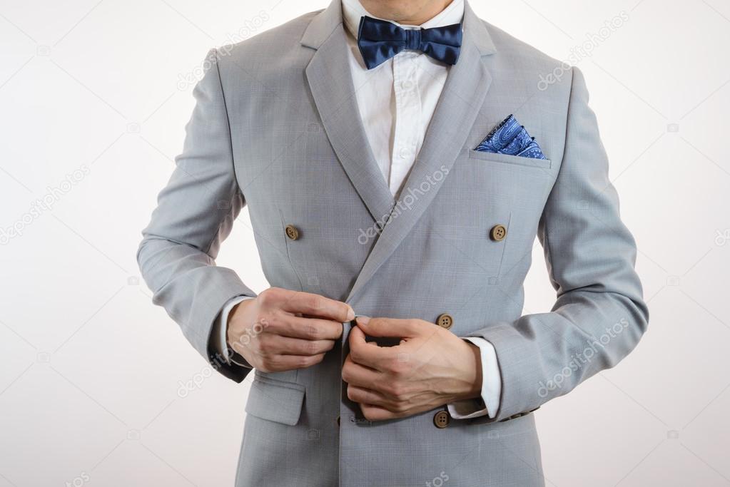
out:
{"label": "light grey double-breasted suit jacket with brown buttons", "polygon": [[[358,117],[345,35],[333,0],[210,52],[183,153],[139,248],[154,302],[221,373],[242,381],[251,372],[220,365],[209,347],[224,303],[255,296],[215,265],[247,204],[272,286],[368,316],[449,313],[450,331],[496,349],[496,418],[451,418],[445,428],[434,424],[438,410],[365,421],[342,394],[342,346],[308,369],[254,371],[239,486],[542,485],[529,412],[615,365],[648,323],[583,76],[568,69],[539,87],[561,63],[467,5],[461,57],[396,201]],[[473,150],[511,113],[548,160]],[[496,225],[507,229],[501,241],[489,235]],[[522,316],[536,235],[557,300]]]}

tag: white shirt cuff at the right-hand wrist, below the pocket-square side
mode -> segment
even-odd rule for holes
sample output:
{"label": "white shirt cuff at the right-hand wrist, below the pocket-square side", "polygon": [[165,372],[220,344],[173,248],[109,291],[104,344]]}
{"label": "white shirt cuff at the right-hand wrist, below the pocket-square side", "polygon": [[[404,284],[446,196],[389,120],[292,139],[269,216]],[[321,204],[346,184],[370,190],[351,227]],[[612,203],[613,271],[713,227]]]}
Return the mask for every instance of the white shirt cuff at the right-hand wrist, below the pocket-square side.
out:
{"label": "white shirt cuff at the right-hand wrist, below the pocket-square side", "polygon": [[494,418],[499,410],[499,397],[502,395],[502,375],[499,375],[496,350],[484,338],[467,337],[464,340],[469,340],[479,347],[482,359],[482,401],[485,407],[482,408],[476,400],[457,401],[447,405],[449,414],[455,419],[480,416]]}

